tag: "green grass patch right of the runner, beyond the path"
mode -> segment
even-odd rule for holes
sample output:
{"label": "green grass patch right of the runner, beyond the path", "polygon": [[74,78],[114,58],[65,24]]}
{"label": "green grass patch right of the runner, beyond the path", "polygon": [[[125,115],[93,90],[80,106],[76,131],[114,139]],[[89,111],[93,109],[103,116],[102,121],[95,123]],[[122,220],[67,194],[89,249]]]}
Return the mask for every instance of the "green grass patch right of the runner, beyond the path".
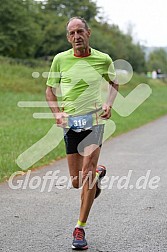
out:
{"label": "green grass patch right of the runner, beyond the path", "polygon": [[134,76],[134,80],[132,79],[130,84],[120,88],[120,92],[123,96],[126,96],[136,84],[139,83],[148,84],[152,89],[152,94],[128,117],[120,117],[115,111],[113,111],[112,119],[117,126],[113,136],[128,132],[129,130],[140,127],[141,125],[167,114],[167,83],[163,83],[159,80],[143,80],[142,77],[140,79],[140,76],[137,76],[137,78]]}

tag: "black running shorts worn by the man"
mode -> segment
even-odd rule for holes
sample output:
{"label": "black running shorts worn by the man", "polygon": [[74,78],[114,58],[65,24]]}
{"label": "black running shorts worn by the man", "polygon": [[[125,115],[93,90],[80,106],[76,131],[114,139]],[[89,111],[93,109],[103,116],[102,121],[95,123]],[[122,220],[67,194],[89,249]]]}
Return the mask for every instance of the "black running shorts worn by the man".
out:
{"label": "black running shorts worn by the man", "polygon": [[95,125],[91,129],[75,132],[72,129],[64,129],[64,141],[66,153],[80,153],[86,146],[96,144],[102,146],[104,124]]}

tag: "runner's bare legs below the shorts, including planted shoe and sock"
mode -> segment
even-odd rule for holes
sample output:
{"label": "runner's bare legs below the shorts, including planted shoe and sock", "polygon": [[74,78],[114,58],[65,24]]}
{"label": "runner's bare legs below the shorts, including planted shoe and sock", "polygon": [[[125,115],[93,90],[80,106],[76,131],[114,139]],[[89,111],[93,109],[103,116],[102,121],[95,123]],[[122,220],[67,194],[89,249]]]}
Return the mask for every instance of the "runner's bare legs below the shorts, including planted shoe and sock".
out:
{"label": "runner's bare legs below the shorts, including planted shoe and sock", "polygon": [[[96,194],[96,167],[100,154],[100,147],[96,146],[96,150],[94,150],[94,147],[95,145],[85,147],[84,153],[90,153],[87,156],[82,156],[79,153],[67,155],[73,186],[75,188],[79,188],[82,185],[80,182],[83,182],[80,216],[73,232],[73,249],[88,248],[83,227],[86,225],[86,221]],[[79,173],[80,171],[82,171],[82,173]],[[82,178],[79,177],[81,174]]]}

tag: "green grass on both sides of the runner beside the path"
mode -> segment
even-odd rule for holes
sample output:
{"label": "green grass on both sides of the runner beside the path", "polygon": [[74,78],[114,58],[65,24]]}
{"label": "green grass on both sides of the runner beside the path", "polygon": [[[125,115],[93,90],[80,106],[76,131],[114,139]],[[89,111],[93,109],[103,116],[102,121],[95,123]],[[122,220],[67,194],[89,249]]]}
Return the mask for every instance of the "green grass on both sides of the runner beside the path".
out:
{"label": "green grass on both sides of the runner beside the path", "polygon": [[[32,72],[48,71],[49,67],[30,68],[24,65],[3,62],[0,65],[0,181],[18,170],[15,160],[32,144],[40,140],[52,127],[54,120],[34,119],[34,112],[50,112],[49,108],[19,108],[19,101],[45,101],[45,82],[41,77],[32,78]],[[167,114],[167,84],[134,75],[129,84],[119,92],[126,96],[139,83],[148,83],[152,95],[130,116],[121,117],[113,111],[117,136]],[[44,146],[45,148],[45,146]],[[39,167],[65,156],[64,142],[35,163]]]}

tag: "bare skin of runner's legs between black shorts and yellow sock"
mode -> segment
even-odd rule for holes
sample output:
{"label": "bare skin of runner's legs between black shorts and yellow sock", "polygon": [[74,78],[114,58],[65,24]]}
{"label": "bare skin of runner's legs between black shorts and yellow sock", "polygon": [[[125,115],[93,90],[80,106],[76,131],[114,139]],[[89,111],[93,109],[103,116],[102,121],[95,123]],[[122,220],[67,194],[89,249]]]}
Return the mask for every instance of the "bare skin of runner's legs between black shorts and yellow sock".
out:
{"label": "bare skin of runner's legs between black shorts and yellow sock", "polygon": [[[90,150],[92,147],[94,148],[94,145],[87,146],[84,151],[91,153]],[[84,223],[87,221],[89,211],[95,198],[96,184],[94,182],[99,154],[100,147],[96,148],[96,150],[88,156],[82,156],[79,153],[67,155],[72,185],[74,188],[79,188],[81,186],[79,185],[81,179],[83,182],[79,220]],[[81,176],[81,173],[79,173],[81,171],[82,178],[79,177]]]}

